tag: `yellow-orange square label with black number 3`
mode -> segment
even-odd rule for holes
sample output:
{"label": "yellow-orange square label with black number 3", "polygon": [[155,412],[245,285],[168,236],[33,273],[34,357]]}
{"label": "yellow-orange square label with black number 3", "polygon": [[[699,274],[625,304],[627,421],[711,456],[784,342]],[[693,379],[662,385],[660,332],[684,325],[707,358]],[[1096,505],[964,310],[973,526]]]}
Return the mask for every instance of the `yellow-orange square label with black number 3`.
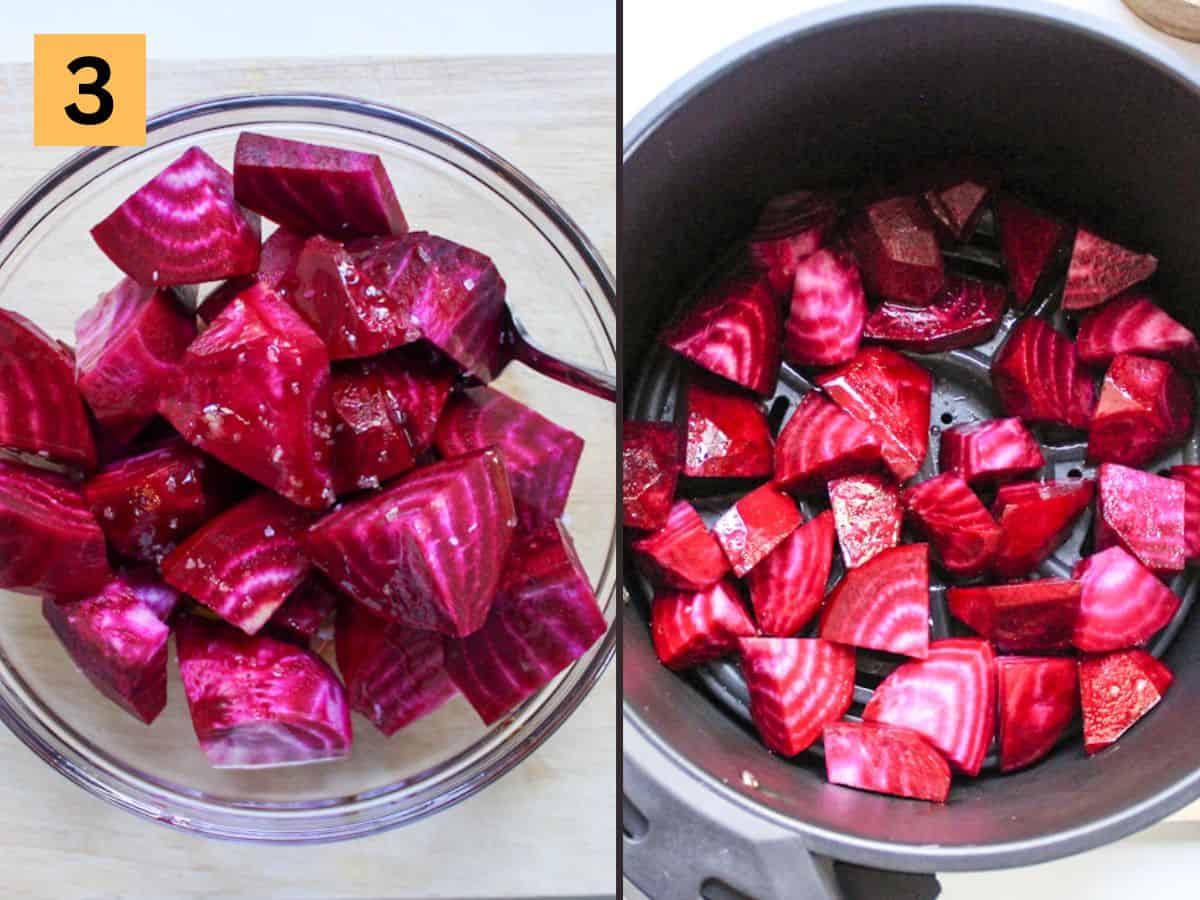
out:
{"label": "yellow-orange square label with black number 3", "polygon": [[34,35],[34,143],[146,143],[145,35]]}

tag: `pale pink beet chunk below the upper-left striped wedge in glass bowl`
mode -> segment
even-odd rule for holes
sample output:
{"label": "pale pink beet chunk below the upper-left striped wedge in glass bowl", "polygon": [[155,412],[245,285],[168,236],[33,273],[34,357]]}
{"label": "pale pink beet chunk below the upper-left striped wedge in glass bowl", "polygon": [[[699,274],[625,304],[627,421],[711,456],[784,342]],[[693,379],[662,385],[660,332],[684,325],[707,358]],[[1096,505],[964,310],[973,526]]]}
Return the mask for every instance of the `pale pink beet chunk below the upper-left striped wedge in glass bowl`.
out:
{"label": "pale pink beet chunk below the upper-left striped wedge in glass bowl", "polygon": [[118,442],[154,418],[162,385],[196,337],[196,319],[174,292],[132,278],[76,322],[76,377],[88,408]]}

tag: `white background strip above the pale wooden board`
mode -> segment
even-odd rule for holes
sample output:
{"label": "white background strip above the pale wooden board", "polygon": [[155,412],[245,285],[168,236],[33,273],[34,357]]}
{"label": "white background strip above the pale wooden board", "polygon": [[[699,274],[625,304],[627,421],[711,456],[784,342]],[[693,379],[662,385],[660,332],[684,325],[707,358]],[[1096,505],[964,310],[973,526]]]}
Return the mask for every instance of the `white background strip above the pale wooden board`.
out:
{"label": "white background strip above the pale wooden board", "polygon": [[617,0],[42,0],[0,4],[0,62],[36,32],[146,35],[150,59],[616,53]]}

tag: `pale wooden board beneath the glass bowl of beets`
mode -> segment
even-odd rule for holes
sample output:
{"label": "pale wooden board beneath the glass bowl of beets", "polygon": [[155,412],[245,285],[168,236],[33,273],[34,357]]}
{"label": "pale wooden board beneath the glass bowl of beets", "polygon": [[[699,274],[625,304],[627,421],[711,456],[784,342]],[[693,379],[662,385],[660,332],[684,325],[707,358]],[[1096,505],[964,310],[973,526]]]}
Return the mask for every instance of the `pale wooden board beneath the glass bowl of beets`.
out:
{"label": "pale wooden board beneath the glass bowl of beets", "polygon": [[[545,187],[614,265],[612,56],[150,64],[151,110],[252,91],[348,94],[444,121]],[[0,208],[71,152],[34,148],[31,98],[31,67],[0,66]],[[134,818],[85,794],[0,728],[0,893],[58,900],[612,894],[616,708],[610,668],[545,746],[474,798],[409,828],[311,847],[224,844]]]}

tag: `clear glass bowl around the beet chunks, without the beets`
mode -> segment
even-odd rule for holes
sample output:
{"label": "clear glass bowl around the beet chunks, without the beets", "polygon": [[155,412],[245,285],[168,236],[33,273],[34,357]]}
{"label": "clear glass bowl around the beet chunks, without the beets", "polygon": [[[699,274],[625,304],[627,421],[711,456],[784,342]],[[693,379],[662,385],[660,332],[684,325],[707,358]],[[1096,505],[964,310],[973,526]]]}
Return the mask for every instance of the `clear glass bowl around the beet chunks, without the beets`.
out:
{"label": "clear glass bowl around the beet chunks, without the beets", "polygon": [[[616,372],[612,276],[545,192],[443,125],[329,95],[196,103],[152,118],[144,148],[92,148],[71,157],[0,220],[0,306],[73,343],[76,318],[120,277],[91,241],[91,226],[188,146],[232,167],[238,134],[247,128],[378,154],[414,228],[496,260],[514,312],[539,344]],[[509,718],[485,727],[456,697],[390,739],[355,715],[354,751],[342,762],[214,769],[192,732],[174,648],[167,708],[146,727],[74,668],[37,600],[0,592],[0,719],[90,793],[216,838],[300,842],[372,834],[446,809],[498,779],[563,724],[613,658],[617,503],[611,403],[521,364],[496,386],[586,440],[564,521],[610,624],[586,656]]]}

